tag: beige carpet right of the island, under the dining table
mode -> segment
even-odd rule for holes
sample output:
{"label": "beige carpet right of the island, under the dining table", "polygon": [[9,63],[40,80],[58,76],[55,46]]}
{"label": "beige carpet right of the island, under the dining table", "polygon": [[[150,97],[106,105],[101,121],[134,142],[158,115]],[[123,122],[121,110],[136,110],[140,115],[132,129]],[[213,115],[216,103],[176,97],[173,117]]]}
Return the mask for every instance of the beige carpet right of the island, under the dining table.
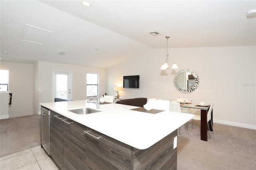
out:
{"label": "beige carpet right of the island, under the dining table", "polygon": [[188,133],[178,135],[178,170],[256,170],[256,130],[214,123],[208,142]]}

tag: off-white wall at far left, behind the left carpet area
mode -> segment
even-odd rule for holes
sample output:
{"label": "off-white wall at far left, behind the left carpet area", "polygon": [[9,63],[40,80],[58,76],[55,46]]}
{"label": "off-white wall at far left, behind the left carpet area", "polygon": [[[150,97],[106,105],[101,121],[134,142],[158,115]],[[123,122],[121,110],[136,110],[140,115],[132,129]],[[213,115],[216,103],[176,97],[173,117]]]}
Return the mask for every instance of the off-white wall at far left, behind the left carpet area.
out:
{"label": "off-white wall at far left, behind the left carpet area", "polygon": [[9,105],[9,117],[32,115],[34,64],[1,61],[1,68],[10,70],[9,91],[12,93],[12,105]]}

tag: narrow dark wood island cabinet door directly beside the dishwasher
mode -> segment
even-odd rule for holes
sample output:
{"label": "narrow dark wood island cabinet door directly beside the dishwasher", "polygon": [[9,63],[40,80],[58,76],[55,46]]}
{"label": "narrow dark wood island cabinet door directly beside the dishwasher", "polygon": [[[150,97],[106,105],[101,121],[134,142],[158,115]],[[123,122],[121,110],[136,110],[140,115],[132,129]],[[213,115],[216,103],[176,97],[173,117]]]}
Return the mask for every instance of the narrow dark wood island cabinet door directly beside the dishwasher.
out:
{"label": "narrow dark wood island cabinet door directly beside the dishwasher", "polygon": [[62,115],[50,111],[50,155],[63,169],[63,119]]}

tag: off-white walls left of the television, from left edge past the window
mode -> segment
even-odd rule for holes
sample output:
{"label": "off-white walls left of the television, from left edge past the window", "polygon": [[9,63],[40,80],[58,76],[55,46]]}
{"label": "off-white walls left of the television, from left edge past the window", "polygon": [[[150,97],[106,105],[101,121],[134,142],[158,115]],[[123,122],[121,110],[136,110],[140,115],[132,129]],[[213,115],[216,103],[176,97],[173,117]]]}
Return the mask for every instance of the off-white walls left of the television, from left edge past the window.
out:
{"label": "off-white walls left of the television, from left edge past the window", "polygon": [[[106,69],[83,67],[60,63],[38,61],[21,63],[1,61],[1,68],[9,69],[10,93],[12,105],[9,105],[9,117],[40,114],[39,103],[53,102],[52,71],[72,72],[72,99],[86,99],[86,73],[98,73],[99,93],[106,93]],[[2,103],[1,103],[2,107]],[[5,113],[1,113],[2,114]]]}

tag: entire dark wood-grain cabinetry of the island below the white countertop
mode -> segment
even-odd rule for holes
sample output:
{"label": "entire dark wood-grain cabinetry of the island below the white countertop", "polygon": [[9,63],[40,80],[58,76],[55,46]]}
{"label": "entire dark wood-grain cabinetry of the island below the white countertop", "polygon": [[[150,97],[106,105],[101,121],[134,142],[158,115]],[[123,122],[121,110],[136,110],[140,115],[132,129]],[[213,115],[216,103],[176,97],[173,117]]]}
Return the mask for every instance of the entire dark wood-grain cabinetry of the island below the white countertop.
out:
{"label": "entire dark wood-grain cabinetry of the island below the white countertop", "polygon": [[140,150],[58,113],[50,113],[50,155],[63,170],[176,169],[175,136],[177,130]]}

